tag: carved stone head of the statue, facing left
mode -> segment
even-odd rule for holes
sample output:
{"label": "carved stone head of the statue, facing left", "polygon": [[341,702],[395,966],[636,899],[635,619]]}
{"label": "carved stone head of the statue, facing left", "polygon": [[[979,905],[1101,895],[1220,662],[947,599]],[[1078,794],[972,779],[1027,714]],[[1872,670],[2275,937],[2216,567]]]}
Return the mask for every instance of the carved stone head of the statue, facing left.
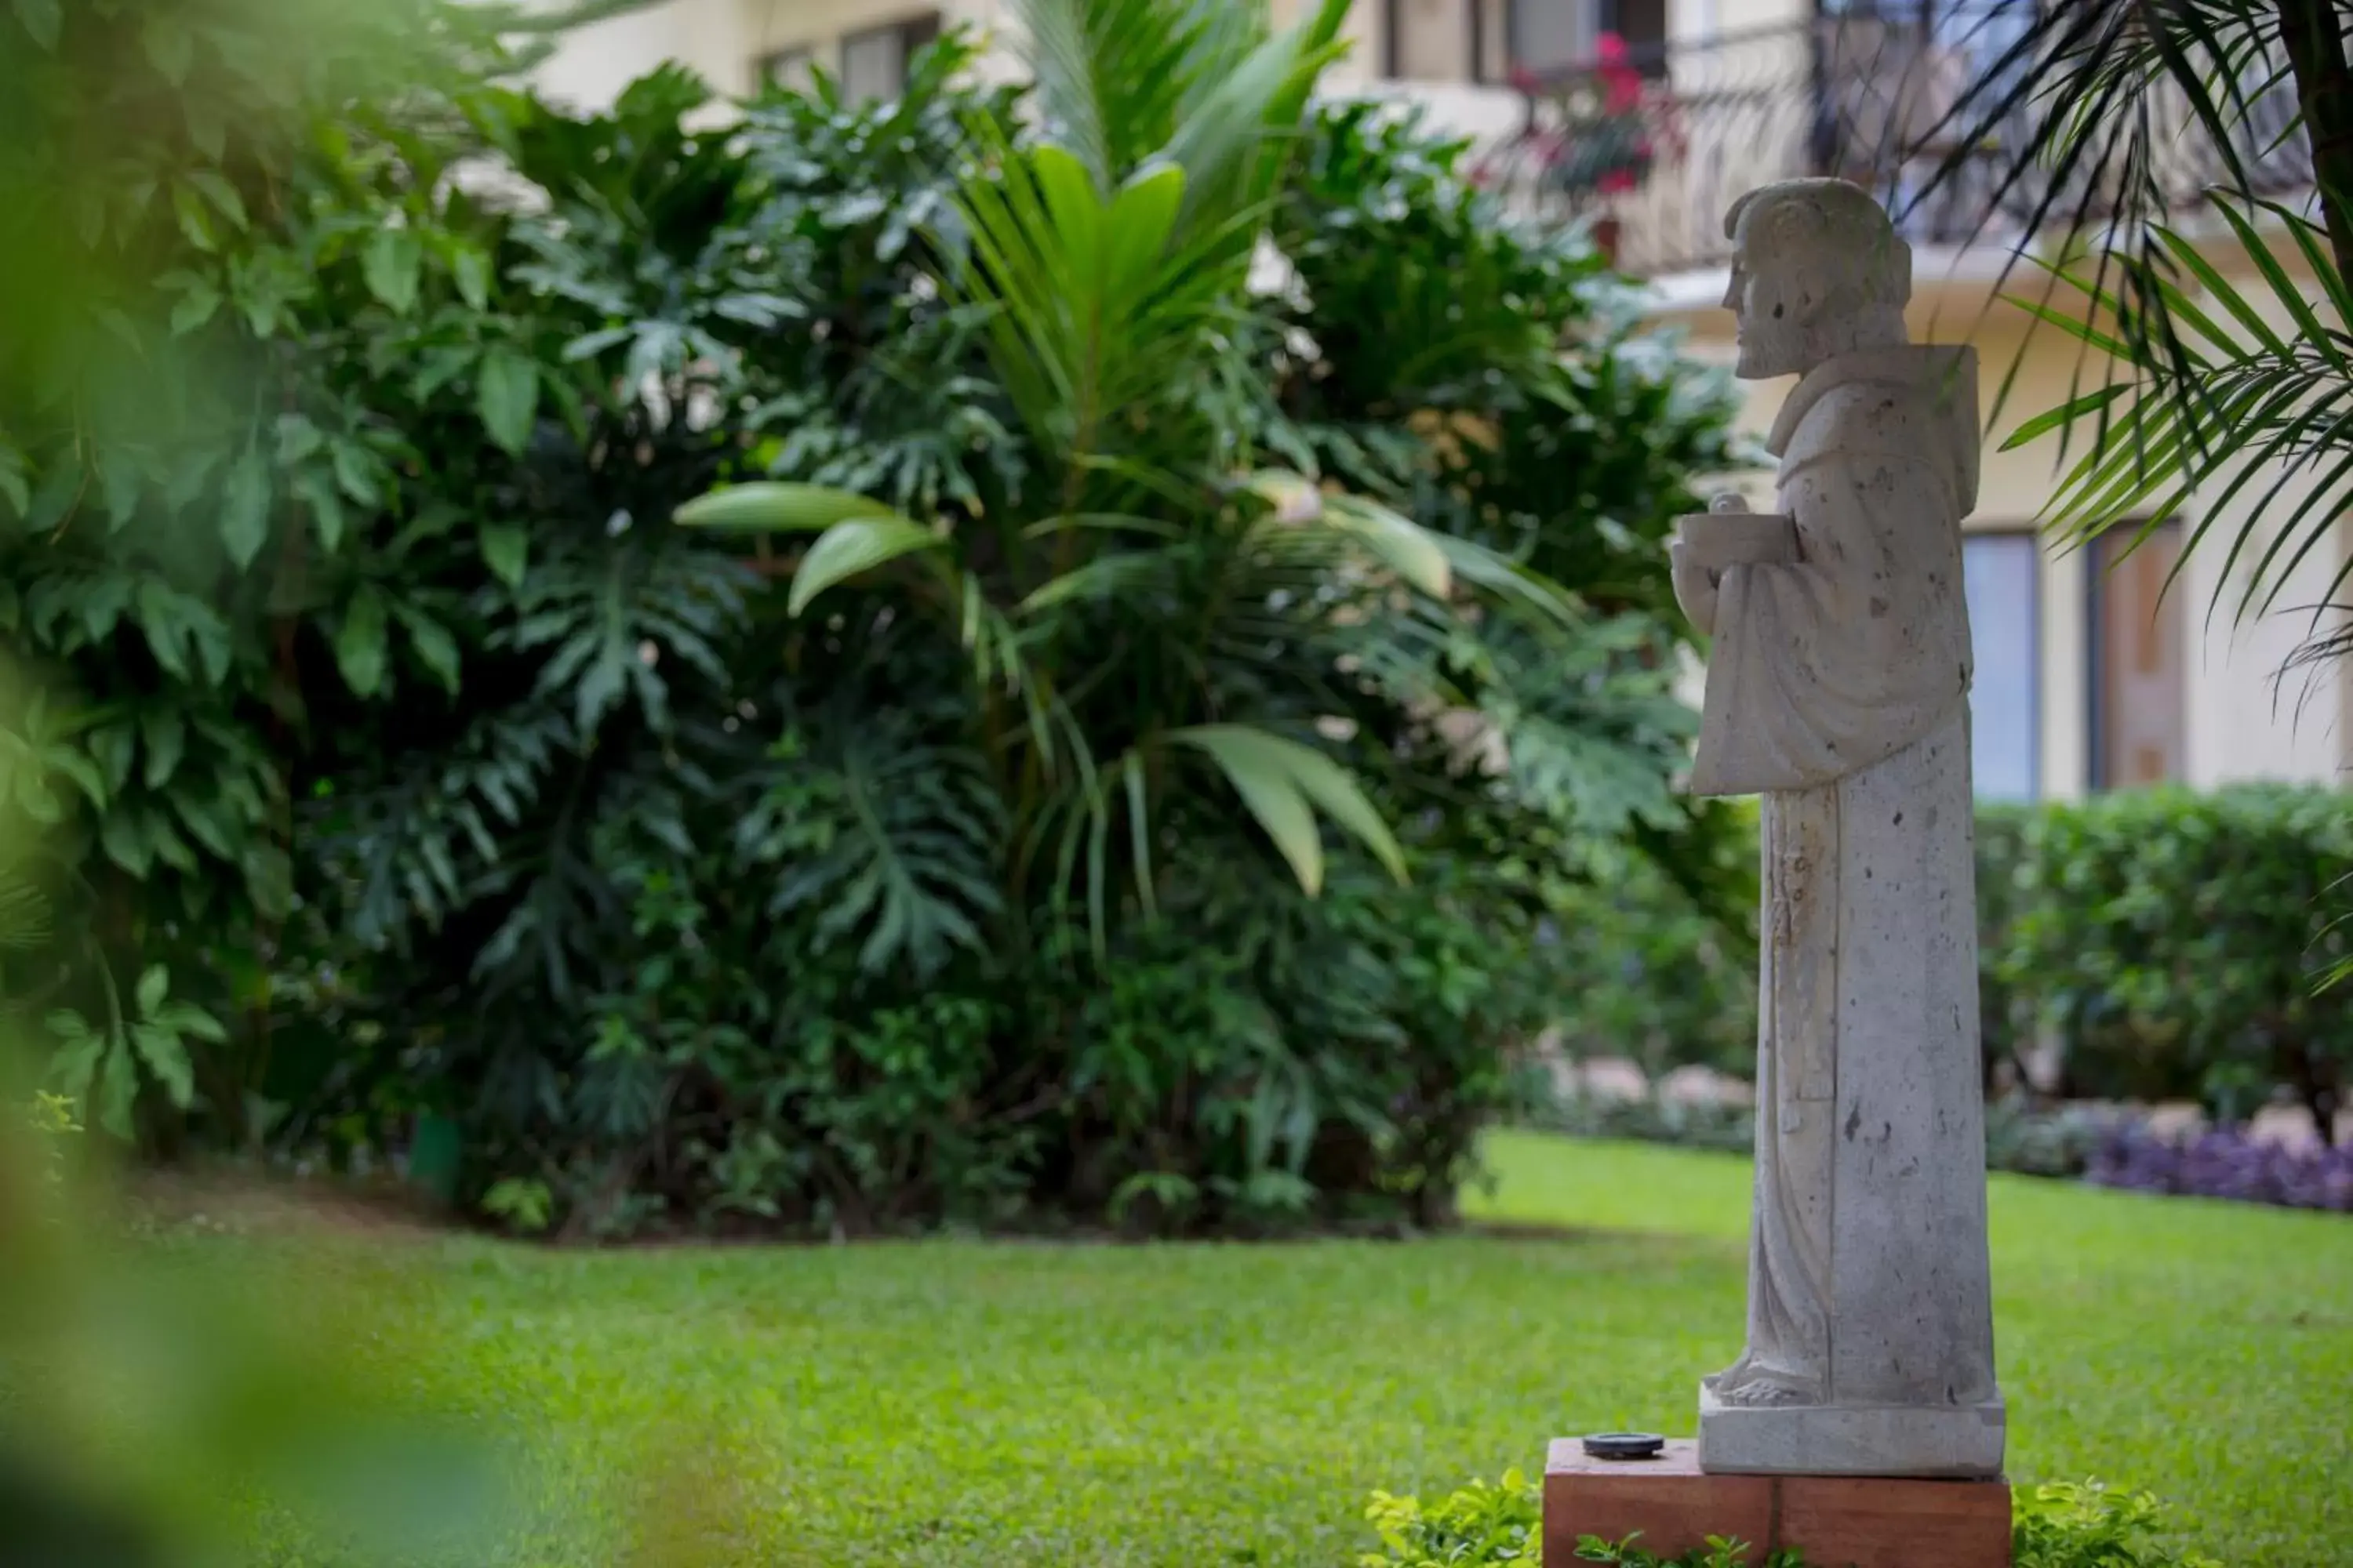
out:
{"label": "carved stone head of the statue, facing left", "polygon": [[1739,376],[1809,371],[1854,348],[1904,343],[1911,247],[1871,193],[1842,179],[1751,190],[1725,214]]}

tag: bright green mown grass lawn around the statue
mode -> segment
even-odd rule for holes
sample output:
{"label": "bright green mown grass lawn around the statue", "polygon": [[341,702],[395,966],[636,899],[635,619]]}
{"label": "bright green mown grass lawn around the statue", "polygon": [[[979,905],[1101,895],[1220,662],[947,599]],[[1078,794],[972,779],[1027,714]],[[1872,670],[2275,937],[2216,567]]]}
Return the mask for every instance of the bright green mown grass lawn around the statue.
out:
{"label": "bright green mown grass lawn around the statue", "polygon": [[[1741,1328],[1748,1171],[1494,1140],[1558,1239],[546,1253],[433,1244],[482,1410],[558,1446],[522,1561],[619,1519],[666,1425],[758,1563],[1341,1568],[1369,1488],[1692,1429]],[[2353,1563],[2353,1222],[1995,1178],[2012,1476],[2151,1486],[2233,1568]]]}

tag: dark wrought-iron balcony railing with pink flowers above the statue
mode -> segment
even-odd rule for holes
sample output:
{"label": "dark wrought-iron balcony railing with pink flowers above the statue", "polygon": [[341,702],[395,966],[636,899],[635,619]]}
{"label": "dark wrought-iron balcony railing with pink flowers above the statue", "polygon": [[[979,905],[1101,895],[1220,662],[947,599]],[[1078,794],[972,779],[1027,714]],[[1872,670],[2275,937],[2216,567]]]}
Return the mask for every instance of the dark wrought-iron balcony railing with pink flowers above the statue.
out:
{"label": "dark wrought-iron balcony railing with pink flowers above the statue", "polygon": [[[2071,221],[2078,209],[2099,221],[2113,197],[2089,190],[2080,172],[2057,193],[2045,169],[2012,179],[2040,106],[2021,103],[1965,150],[1944,141],[1960,120],[1984,118],[1972,103],[1946,125],[1960,94],[2002,59],[2002,14],[1960,28],[1948,14],[1939,33],[1955,42],[1920,38],[1899,21],[1821,16],[1706,42],[1612,49],[1591,66],[1522,78],[1527,125],[1485,158],[1480,176],[1520,205],[1595,219],[1619,266],[1642,277],[1722,266],[1732,200],[1807,174],[1871,188],[1913,244],[2017,244],[2038,212],[2047,212],[2045,223]],[[2169,207],[2191,207],[2224,179],[2226,162],[2177,96],[2160,92],[2151,115],[2155,181]],[[2294,99],[2271,85],[2233,129],[2242,167],[2268,193],[2313,183],[2304,132],[2282,136],[2292,125]],[[1920,197],[1927,174],[1955,150],[1955,174]]]}

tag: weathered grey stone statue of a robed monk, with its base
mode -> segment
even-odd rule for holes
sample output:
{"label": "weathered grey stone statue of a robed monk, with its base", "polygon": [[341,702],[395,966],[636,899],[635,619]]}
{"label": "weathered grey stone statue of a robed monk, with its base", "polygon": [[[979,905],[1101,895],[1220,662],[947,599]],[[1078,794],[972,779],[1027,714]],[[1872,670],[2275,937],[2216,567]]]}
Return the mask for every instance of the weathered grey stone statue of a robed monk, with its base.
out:
{"label": "weathered grey stone statue of a robed monk, with its base", "polygon": [[1697,795],[1762,795],[1748,1347],[1711,1472],[1995,1476],[1977,1034],[1969,616],[1977,357],[1913,346],[1911,247],[1857,186],[1751,193],[1739,376],[1798,376],[1779,512],[1682,520],[1711,637]]}

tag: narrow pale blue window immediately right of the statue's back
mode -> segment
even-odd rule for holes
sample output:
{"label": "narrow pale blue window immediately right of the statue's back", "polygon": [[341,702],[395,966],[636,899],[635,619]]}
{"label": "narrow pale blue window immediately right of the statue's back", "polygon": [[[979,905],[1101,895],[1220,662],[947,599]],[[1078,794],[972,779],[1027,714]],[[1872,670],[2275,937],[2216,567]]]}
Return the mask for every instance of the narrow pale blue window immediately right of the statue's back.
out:
{"label": "narrow pale blue window immediately right of the statue's back", "polygon": [[2042,764],[2042,557],[2033,534],[1962,534],[1977,679],[1969,769],[1979,799],[2035,799]]}

